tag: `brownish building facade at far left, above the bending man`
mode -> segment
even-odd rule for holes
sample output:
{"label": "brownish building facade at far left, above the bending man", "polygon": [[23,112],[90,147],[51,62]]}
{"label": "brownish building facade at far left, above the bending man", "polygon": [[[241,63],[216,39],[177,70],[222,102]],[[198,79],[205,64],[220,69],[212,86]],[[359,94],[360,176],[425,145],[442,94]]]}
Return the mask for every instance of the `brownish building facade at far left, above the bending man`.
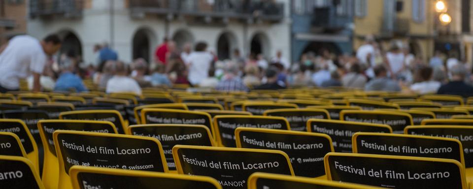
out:
{"label": "brownish building facade at far left, above the bending man", "polygon": [[26,0],[0,0],[0,44],[26,33],[26,4]]}

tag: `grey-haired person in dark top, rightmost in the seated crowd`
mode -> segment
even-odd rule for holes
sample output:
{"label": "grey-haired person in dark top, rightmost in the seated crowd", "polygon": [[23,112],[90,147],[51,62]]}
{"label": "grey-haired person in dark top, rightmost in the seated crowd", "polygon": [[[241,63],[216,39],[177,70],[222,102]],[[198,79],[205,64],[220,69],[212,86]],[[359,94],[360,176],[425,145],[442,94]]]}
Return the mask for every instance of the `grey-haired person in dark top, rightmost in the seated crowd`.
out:
{"label": "grey-haired person in dark top, rightmost in the seated crowd", "polygon": [[450,82],[440,86],[439,95],[461,95],[468,97],[473,94],[473,87],[465,83],[466,68],[463,64],[454,65],[450,70]]}

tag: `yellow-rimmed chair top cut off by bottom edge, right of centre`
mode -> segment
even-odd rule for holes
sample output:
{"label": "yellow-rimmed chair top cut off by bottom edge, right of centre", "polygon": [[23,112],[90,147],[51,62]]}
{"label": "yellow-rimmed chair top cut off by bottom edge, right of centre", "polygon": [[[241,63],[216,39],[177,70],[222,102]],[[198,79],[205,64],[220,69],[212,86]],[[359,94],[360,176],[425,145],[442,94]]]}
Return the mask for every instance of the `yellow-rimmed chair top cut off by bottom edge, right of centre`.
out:
{"label": "yellow-rimmed chair top cut off by bottom edge, right of centre", "polygon": [[271,173],[253,173],[248,189],[381,189],[367,185],[339,183],[322,179],[292,177]]}

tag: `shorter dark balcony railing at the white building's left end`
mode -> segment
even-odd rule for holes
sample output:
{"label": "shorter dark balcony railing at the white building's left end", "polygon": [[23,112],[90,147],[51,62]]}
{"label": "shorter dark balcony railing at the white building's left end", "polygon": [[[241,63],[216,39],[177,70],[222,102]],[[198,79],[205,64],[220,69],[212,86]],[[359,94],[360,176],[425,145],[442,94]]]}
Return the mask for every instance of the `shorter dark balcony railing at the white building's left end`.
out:
{"label": "shorter dark balcony railing at the white building's left end", "polygon": [[84,0],[30,0],[30,17],[62,15],[66,18],[82,16]]}

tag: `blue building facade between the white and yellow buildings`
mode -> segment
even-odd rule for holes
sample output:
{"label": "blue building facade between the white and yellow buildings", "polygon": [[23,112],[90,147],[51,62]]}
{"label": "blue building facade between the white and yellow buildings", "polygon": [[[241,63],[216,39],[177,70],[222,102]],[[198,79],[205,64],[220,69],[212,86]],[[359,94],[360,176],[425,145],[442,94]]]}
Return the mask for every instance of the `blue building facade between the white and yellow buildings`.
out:
{"label": "blue building facade between the white and yellow buildings", "polygon": [[292,0],[292,61],[306,52],[352,52],[353,0]]}

